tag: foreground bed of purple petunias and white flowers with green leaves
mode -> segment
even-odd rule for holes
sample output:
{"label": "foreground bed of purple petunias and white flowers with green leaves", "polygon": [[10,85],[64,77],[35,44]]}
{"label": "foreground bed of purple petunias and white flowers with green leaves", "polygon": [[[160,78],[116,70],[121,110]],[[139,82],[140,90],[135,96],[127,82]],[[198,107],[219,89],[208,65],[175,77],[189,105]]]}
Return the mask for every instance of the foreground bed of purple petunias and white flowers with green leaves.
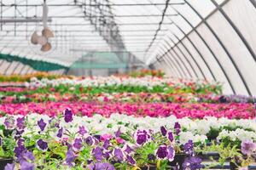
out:
{"label": "foreground bed of purple petunias and white flowers with green leaves", "polygon": [[202,167],[199,155],[213,149],[225,161],[239,157],[242,167],[255,159],[253,120],[79,117],[67,109],[55,117],[6,116],[0,122],[0,157],[15,158],[5,170],[125,170],[147,166],[195,170]]}

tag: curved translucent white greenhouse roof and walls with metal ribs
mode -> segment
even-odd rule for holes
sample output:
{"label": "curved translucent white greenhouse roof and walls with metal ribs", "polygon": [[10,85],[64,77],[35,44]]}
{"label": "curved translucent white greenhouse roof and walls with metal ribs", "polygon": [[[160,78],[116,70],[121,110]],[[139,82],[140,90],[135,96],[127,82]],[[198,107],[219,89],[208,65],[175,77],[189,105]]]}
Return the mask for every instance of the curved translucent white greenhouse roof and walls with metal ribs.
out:
{"label": "curved translucent white greenhouse roof and walls with metal ribs", "polygon": [[49,52],[31,42],[43,30],[43,3],[1,1],[2,74],[63,74],[94,61],[97,69],[150,65],[224,82],[226,94],[256,95],[255,0],[47,0]]}

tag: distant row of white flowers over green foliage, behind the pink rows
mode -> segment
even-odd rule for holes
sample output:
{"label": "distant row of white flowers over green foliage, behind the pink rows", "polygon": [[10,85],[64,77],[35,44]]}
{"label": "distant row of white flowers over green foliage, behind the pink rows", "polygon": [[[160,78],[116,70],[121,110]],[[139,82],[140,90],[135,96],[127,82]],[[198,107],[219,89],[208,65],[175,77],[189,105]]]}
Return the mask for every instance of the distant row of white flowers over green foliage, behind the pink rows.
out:
{"label": "distant row of white flowers over green foliage, behind the pink rows", "polygon": [[[189,81],[182,79],[173,79],[170,77],[85,77],[83,79],[42,79],[32,78],[31,82],[26,82],[26,87],[42,88],[54,87],[55,89],[64,88],[64,90],[79,90],[79,93],[88,92],[96,89],[97,92],[166,92],[176,94],[186,93],[221,93],[221,84],[218,82]],[[81,91],[82,88],[82,91]],[[92,89],[91,89],[92,88]],[[85,90],[85,91],[84,91]],[[68,92],[68,91],[67,91]]]}

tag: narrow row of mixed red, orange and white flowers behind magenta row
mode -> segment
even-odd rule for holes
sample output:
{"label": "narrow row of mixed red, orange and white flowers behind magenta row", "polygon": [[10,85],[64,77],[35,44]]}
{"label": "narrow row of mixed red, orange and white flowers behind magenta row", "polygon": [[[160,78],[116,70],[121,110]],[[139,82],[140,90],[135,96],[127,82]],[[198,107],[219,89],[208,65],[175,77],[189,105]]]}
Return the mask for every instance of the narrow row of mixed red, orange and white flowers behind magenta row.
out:
{"label": "narrow row of mixed red, orange and white flowers behind magenta row", "polygon": [[[2,92],[2,93],[1,93]],[[7,93],[6,93],[7,92]],[[11,92],[11,93],[8,93]],[[16,92],[16,93],[14,93]],[[22,88],[0,88],[0,103],[26,103],[45,101],[98,101],[98,102],[173,102],[173,103],[256,103],[256,98],[243,95],[215,94],[24,94]]]}

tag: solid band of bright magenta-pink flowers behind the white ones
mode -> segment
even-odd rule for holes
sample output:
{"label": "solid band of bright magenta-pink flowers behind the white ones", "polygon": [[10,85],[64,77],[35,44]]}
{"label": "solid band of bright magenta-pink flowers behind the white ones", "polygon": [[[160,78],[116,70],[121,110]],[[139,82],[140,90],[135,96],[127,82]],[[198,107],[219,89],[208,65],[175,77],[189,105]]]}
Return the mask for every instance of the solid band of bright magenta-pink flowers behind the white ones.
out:
{"label": "solid band of bright magenta-pink flowers behind the white ones", "polygon": [[10,115],[38,113],[56,116],[65,108],[71,108],[81,116],[100,114],[109,117],[113,113],[128,116],[166,117],[177,116],[204,118],[205,116],[252,119],[256,115],[253,104],[174,104],[174,103],[84,103],[84,102],[45,102],[0,105],[0,112]]}

